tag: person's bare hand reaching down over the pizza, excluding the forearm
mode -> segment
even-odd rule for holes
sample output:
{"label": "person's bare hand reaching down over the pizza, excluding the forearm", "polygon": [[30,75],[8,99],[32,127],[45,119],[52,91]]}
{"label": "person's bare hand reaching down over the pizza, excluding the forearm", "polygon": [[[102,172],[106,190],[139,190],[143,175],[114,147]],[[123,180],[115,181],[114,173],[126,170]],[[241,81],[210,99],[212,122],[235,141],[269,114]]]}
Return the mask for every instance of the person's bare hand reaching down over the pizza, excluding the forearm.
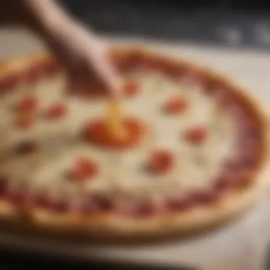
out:
{"label": "person's bare hand reaching down over the pizza, excluding the forearm", "polygon": [[119,77],[102,38],[80,23],[63,21],[51,28],[47,41],[68,72],[71,93],[117,97]]}

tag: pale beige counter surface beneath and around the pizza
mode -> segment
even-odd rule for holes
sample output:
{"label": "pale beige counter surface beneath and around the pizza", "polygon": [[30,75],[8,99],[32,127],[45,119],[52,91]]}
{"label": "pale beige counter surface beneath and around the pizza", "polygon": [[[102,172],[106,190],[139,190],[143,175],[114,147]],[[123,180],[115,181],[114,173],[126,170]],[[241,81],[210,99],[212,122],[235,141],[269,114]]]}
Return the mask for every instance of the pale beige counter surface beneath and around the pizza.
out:
{"label": "pale beige counter surface beneath and around the pizza", "polygon": [[[225,73],[252,90],[269,112],[270,54],[252,50],[225,50],[181,43],[109,37],[112,43],[144,43],[158,50],[195,60]],[[36,38],[21,29],[0,31],[0,60],[43,50]],[[261,201],[231,225],[185,241],[139,247],[92,247],[61,244],[0,234],[0,245],[83,259],[145,262],[166,266],[195,266],[201,270],[263,270],[270,243],[270,200]]]}

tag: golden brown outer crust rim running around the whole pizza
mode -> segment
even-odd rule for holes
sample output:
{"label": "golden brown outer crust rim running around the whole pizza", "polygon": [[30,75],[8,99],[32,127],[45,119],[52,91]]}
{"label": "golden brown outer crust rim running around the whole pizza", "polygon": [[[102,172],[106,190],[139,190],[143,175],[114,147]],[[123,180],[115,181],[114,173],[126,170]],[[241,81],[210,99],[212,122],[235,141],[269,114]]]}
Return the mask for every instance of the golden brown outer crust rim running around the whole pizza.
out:
{"label": "golden brown outer crust rim running around the whole pizza", "polygon": [[[249,91],[234,85],[229,79],[215,74],[205,67],[200,67],[188,61],[175,60],[159,53],[144,48],[114,48],[112,49],[114,58],[126,58],[128,55],[142,55],[146,57],[158,58],[159,60],[171,61],[172,64],[183,63],[192,70],[200,70],[207,76],[215,77],[229,85],[229,89],[234,92],[245,104],[249,106],[253,114],[256,114],[257,121],[263,132],[263,147],[261,152],[261,162],[251,175],[252,184],[244,188],[241,192],[232,193],[222,198],[215,205],[195,208],[188,212],[158,216],[142,219],[125,219],[117,215],[102,215],[82,219],[79,215],[67,214],[56,215],[53,212],[44,212],[36,209],[31,216],[22,218],[7,202],[0,203],[0,217],[9,225],[15,227],[28,228],[31,231],[50,232],[57,235],[89,237],[104,242],[108,239],[118,241],[120,239],[132,239],[141,241],[144,239],[160,239],[175,234],[193,234],[215,225],[220,225],[238,216],[248,207],[252,206],[261,194],[268,188],[268,167],[269,167],[269,125],[266,112],[261,108],[261,104],[253,97]],[[0,65],[1,76],[6,76],[12,72],[23,70],[29,65],[42,64],[47,60],[52,60],[50,55],[33,55],[23,60],[6,61]],[[6,223],[5,222],[5,223]]]}

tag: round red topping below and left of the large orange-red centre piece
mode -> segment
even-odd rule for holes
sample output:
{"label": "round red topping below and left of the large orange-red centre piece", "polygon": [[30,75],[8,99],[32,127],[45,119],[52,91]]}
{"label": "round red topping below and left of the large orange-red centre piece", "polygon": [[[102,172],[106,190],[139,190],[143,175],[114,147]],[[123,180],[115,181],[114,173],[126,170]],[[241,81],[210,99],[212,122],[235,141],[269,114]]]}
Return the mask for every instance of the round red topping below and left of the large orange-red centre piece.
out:
{"label": "round red topping below and left of the large orange-red centre piece", "polygon": [[77,181],[92,180],[98,173],[98,166],[90,158],[77,158],[71,169],[71,177]]}

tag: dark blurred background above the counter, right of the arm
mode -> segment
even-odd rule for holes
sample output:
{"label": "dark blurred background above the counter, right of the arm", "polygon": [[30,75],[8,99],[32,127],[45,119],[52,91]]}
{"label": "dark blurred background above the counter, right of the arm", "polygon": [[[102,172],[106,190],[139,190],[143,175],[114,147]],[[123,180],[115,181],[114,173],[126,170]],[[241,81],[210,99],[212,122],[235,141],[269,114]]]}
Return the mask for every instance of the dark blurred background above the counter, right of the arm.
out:
{"label": "dark blurred background above the counter, right of the arm", "polygon": [[102,33],[270,48],[270,1],[62,0]]}

